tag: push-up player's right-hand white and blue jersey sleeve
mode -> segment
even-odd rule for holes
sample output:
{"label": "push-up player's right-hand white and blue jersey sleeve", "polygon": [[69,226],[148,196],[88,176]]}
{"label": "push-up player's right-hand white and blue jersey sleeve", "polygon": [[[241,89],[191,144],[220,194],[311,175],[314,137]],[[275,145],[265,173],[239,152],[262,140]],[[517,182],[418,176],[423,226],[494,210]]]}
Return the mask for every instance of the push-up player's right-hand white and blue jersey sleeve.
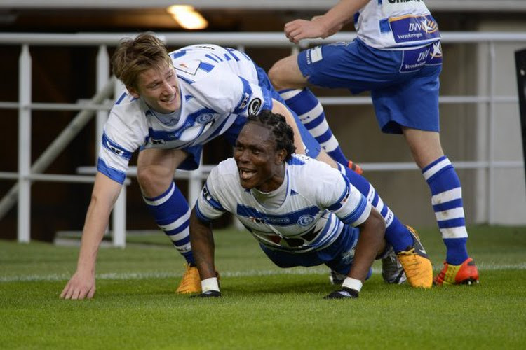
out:
{"label": "push-up player's right-hand white and blue jersey sleeve", "polygon": [[371,204],[367,199],[349,183],[337,169],[333,169],[325,163],[318,165],[318,172],[323,176],[321,186],[318,188],[318,197],[326,209],[332,211],[343,222],[358,226],[370,215]]}

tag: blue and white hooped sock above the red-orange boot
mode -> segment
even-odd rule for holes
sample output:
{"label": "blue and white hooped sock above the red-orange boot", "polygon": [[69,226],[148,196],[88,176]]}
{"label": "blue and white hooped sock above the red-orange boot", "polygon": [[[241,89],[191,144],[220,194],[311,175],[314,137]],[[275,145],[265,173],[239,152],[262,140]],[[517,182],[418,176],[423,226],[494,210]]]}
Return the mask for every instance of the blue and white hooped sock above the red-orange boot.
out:
{"label": "blue and white hooped sock above the red-orange boot", "polygon": [[422,169],[431,189],[431,204],[447,248],[446,262],[460,265],[468,258],[466,221],[459,176],[445,155]]}

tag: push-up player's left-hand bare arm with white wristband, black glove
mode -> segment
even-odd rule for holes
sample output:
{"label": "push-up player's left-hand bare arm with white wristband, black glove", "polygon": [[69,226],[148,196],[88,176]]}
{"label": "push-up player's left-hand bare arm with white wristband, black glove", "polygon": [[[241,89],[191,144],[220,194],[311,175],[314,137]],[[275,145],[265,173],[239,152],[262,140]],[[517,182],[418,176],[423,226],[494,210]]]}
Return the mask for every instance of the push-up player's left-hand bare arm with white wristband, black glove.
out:
{"label": "push-up player's left-hand bare arm with white wristband, black glove", "polygon": [[210,222],[205,222],[198,218],[196,206],[194,206],[190,214],[190,244],[194,254],[194,261],[201,277],[201,289],[203,290],[198,297],[221,296],[215,274],[215,245],[212,228],[210,228]]}

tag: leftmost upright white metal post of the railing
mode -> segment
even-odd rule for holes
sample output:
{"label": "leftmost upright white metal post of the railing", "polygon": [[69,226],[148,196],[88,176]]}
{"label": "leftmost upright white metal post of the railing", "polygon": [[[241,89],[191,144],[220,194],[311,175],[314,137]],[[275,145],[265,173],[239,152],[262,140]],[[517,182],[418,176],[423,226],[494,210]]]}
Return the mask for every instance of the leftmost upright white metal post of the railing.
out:
{"label": "leftmost upright white metal post of the railing", "polygon": [[22,45],[18,65],[18,241],[31,237],[31,55],[29,46]]}

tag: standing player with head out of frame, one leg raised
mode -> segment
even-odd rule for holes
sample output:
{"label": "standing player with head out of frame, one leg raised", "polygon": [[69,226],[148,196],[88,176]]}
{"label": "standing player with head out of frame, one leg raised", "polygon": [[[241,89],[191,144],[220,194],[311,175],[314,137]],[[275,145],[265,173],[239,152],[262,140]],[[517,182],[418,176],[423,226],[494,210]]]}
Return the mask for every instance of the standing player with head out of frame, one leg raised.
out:
{"label": "standing player with head out of frame, one leg raised", "polygon": [[[303,38],[326,38],[351,20],[356,40],[285,57],[270,69],[269,78],[320,142],[331,132],[307,83],[344,87],[352,93],[370,91],[382,132],[403,134],[429,184],[433,211],[447,248],[444,267],[434,283],[478,283],[478,269],[466,248],[461,184],[440,144],[438,76],[442,51],[438,25],[423,0],[342,0],[312,20],[288,22],[285,35],[293,43]],[[342,157],[334,141],[331,145],[332,156]]]}

